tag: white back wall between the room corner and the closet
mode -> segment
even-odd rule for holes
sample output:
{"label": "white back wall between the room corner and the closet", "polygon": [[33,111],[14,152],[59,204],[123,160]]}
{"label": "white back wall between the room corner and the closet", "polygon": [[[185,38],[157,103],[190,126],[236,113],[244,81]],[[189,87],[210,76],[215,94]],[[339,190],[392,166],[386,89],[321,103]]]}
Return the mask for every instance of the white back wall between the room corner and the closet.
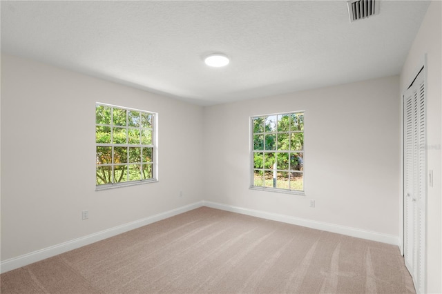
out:
{"label": "white back wall between the room corner and the closet", "polygon": [[[305,110],[305,196],[250,190],[249,117],[295,110]],[[205,199],[398,238],[400,150],[398,76],[206,107]]]}

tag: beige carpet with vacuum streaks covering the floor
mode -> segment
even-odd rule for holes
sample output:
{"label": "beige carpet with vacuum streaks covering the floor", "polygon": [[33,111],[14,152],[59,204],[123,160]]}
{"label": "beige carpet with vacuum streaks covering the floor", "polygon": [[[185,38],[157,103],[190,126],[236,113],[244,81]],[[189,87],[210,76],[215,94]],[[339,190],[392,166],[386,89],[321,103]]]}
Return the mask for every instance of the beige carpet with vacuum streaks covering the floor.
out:
{"label": "beige carpet with vacuum streaks covering the floor", "polygon": [[198,208],[1,275],[1,293],[414,293],[396,246]]}

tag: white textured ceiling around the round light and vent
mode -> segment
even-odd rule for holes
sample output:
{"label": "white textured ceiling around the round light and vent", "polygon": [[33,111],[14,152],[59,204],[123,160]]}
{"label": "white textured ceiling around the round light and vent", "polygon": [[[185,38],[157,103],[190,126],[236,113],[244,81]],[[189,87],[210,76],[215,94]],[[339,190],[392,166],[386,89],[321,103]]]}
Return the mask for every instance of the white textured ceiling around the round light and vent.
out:
{"label": "white textured ceiling around the round light and vent", "polygon": [[1,50],[211,105],[397,75],[429,2],[380,5],[350,23],[346,1],[1,1]]}

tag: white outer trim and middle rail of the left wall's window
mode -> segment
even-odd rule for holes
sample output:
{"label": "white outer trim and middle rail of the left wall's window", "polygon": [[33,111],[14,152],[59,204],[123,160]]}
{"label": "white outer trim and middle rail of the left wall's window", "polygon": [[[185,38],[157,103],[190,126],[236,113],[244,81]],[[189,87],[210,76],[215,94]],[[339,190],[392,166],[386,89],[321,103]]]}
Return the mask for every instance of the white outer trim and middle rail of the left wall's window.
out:
{"label": "white outer trim and middle rail of the left wall's window", "polygon": [[[108,189],[113,189],[113,188],[122,188],[122,187],[126,187],[126,186],[136,186],[136,185],[142,185],[142,184],[150,184],[150,183],[155,183],[155,182],[159,182],[158,179],[158,113],[157,112],[153,112],[153,111],[147,111],[147,110],[141,110],[141,109],[137,109],[137,108],[130,108],[130,107],[126,107],[126,106],[117,106],[117,105],[113,105],[113,104],[106,104],[106,103],[102,103],[102,102],[95,102],[95,108],[97,108],[97,106],[108,106],[111,108],[119,108],[119,109],[124,109],[124,110],[132,110],[132,111],[137,111],[137,112],[144,112],[144,113],[148,113],[150,115],[153,115],[153,119],[152,119],[152,144],[151,144],[151,148],[152,148],[152,178],[151,179],[139,179],[139,180],[135,180],[135,181],[128,181],[128,182],[117,182],[117,183],[111,183],[111,184],[103,184],[103,185],[97,185],[97,175],[95,174],[95,190],[96,191],[100,191],[100,190],[108,190]],[[100,126],[102,124],[97,124],[97,121],[95,121],[95,137],[97,134],[97,126]],[[107,126],[107,125],[106,125]],[[111,128],[115,128],[115,126],[113,126],[113,124],[109,125],[111,126]],[[124,128],[131,129],[130,126],[125,126]],[[111,131],[112,132],[112,131]],[[148,144],[129,144],[128,142],[126,144],[114,144],[114,143],[109,143],[109,144],[99,144],[97,143],[96,139],[95,139],[95,158],[97,157],[96,153],[97,153],[97,146],[104,146],[104,147],[146,147],[146,145]],[[128,163],[129,164],[129,163]],[[124,165],[124,164],[122,164]],[[112,162],[111,164],[107,164],[107,166],[115,166],[115,164]],[[95,170],[97,170],[97,164],[95,164]],[[96,173],[96,171],[95,171]]]}

